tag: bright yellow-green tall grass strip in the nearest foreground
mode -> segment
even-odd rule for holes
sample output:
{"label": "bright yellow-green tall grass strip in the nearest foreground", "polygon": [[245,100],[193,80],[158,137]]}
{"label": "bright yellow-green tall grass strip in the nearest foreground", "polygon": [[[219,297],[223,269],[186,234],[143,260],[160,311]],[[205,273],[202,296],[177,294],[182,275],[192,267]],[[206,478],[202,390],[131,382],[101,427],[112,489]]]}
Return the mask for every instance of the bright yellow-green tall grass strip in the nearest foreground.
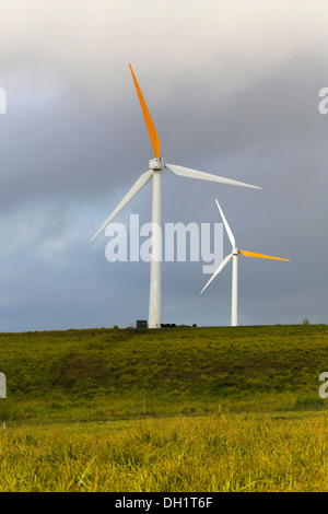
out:
{"label": "bright yellow-green tall grass strip in the nearest foreground", "polygon": [[328,414],[9,428],[0,491],[327,491]]}

